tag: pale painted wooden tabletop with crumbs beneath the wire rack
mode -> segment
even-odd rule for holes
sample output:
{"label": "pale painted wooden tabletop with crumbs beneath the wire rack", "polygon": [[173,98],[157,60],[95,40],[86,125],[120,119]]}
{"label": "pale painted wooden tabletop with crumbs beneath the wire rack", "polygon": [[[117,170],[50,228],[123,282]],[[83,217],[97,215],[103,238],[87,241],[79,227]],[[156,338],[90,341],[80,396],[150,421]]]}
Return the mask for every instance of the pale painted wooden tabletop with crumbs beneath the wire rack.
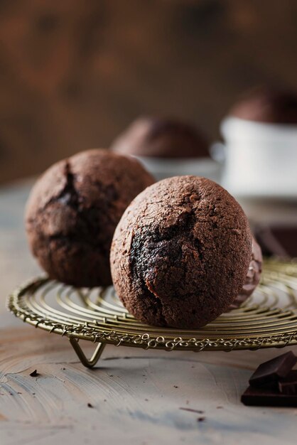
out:
{"label": "pale painted wooden tabletop with crumbs beneath the wire rack", "polygon": [[[23,232],[29,187],[0,189],[1,445],[296,444],[297,409],[240,402],[254,368],[285,349],[167,353],[108,345],[88,370],[67,338],[7,313],[6,295],[40,272]],[[93,348],[85,345],[90,354]]]}

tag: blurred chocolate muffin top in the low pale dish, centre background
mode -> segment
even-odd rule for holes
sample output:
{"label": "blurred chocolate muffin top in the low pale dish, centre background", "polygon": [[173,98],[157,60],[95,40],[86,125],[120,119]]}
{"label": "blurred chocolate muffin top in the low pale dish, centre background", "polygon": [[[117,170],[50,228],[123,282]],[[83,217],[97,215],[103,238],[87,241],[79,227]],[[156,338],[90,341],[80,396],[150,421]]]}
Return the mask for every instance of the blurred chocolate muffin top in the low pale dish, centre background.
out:
{"label": "blurred chocolate muffin top in the low pale dish, centre background", "polygon": [[112,150],[156,158],[210,157],[205,136],[178,119],[136,119],[112,144]]}

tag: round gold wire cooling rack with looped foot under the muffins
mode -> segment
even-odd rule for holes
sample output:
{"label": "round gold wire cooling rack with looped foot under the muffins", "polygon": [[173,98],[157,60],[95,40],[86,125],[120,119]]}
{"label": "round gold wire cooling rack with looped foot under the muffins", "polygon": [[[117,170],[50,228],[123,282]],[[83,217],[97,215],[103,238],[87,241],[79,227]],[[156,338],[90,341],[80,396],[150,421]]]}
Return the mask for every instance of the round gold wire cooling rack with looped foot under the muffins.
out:
{"label": "round gold wire cooling rack with looped foot under the muffins", "polygon": [[[156,328],[136,321],[112,287],[76,289],[33,279],[7,301],[9,311],[36,328],[69,338],[83,365],[94,366],[107,343],[163,350],[242,350],[297,344],[297,262],[264,262],[261,283],[239,307],[197,330]],[[98,343],[90,360],[78,341]]]}

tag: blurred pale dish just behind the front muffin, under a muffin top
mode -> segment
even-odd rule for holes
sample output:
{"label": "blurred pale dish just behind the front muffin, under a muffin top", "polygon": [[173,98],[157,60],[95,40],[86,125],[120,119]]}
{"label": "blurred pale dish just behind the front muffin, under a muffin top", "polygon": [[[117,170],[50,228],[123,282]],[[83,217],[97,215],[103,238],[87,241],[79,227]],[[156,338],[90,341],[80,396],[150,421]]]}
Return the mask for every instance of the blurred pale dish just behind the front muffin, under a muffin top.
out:
{"label": "blurred pale dish just behind the front muffin, under a muffin top", "polygon": [[194,175],[220,182],[222,166],[210,158],[152,158],[135,156],[160,181],[171,176]]}

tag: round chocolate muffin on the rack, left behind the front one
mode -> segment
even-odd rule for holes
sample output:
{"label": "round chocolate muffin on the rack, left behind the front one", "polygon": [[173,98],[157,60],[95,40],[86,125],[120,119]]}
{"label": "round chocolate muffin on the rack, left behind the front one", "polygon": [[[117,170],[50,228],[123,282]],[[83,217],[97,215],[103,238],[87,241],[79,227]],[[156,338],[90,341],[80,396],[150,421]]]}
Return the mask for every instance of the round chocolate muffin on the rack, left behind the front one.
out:
{"label": "round chocolate muffin on the rack, left behind the front one", "polygon": [[48,168],[26,206],[33,255],[51,278],[75,286],[112,284],[109,251],[131,200],[153,177],[133,158],[82,151]]}

